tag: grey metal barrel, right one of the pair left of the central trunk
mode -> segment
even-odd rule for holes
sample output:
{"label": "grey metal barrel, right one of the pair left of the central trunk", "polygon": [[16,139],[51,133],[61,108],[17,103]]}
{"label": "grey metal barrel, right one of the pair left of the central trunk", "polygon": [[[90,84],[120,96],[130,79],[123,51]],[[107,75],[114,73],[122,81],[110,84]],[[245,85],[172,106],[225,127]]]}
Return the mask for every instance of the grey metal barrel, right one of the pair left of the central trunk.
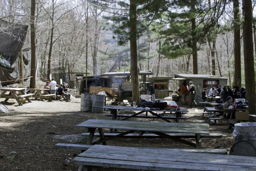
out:
{"label": "grey metal barrel, right one of the pair left of the central trunk", "polygon": [[105,105],[104,94],[93,94],[92,95],[92,113],[103,113]]}

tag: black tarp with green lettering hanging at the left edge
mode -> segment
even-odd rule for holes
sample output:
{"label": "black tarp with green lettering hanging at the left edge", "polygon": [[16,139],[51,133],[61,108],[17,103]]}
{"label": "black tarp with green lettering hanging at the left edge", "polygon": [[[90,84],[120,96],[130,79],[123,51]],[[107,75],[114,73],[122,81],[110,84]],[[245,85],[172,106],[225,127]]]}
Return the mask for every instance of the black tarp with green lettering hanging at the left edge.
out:
{"label": "black tarp with green lettering hanging at the left edge", "polygon": [[[0,20],[0,81],[2,85],[14,83],[21,78],[19,54],[26,39],[27,28],[26,25]],[[30,65],[28,62],[30,56],[23,56],[24,58],[24,63]]]}

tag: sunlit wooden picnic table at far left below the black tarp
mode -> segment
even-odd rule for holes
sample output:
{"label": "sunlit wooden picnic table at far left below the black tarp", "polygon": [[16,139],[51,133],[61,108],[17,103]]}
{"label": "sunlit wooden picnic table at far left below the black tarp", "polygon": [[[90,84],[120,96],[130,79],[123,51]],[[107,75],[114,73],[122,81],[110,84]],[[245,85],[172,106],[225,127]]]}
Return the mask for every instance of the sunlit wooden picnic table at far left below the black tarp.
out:
{"label": "sunlit wooden picnic table at far left below the black tarp", "polygon": [[33,93],[25,94],[25,88],[0,88],[0,91],[0,97],[5,98],[4,102],[7,102],[9,99],[15,99],[20,106],[23,105],[21,100],[31,103],[29,98],[34,95]]}

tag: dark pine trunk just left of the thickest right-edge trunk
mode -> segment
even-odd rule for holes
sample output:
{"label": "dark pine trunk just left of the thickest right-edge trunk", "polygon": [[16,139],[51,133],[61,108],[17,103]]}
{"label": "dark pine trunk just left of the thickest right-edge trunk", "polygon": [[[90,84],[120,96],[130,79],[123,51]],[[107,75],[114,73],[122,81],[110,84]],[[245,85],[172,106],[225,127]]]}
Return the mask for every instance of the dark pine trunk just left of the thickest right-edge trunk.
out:
{"label": "dark pine trunk just left of the thickest right-edge trunk", "polygon": [[241,43],[240,43],[240,12],[239,0],[233,2],[234,10],[234,58],[235,58],[235,74],[234,85],[241,87]]}

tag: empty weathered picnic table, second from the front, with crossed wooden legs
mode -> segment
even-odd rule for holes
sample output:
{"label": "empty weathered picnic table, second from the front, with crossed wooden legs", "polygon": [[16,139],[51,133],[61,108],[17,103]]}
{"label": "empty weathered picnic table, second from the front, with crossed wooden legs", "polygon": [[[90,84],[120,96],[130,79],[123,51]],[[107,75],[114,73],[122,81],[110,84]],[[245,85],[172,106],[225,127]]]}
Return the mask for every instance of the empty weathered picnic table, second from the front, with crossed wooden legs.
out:
{"label": "empty weathered picnic table, second from the front, with crossed wooden legs", "polygon": [[[152,133],[167,139],[172,139],[177,142],[191,145],[193,147],[202,148],[201,134],[208,135],[209,124],[197,124],[197,123],[169,123],[169,122],[143,122],[143,121],[119,121],[119,120],[87,120],[77,127],[85,127],[88,129],[89,137],[87,144],[104,144],[106,145],[108,140],[115,138],[122,138],[127,134],[139,132],[141,136],[144,133]],[[95,137],[95,130],[98,129],[99,139],[93,141]],[[103,129],[117,129],[119,130],[115,136],[105,137]],[[192,133],[195,138],[196,143],[187,141],[185,139],[180,139],[175,136],[168,135],[168,133]],[[158,138],[155,136],[155,138]],[[184,137],[186,138],[186,137]]]}

